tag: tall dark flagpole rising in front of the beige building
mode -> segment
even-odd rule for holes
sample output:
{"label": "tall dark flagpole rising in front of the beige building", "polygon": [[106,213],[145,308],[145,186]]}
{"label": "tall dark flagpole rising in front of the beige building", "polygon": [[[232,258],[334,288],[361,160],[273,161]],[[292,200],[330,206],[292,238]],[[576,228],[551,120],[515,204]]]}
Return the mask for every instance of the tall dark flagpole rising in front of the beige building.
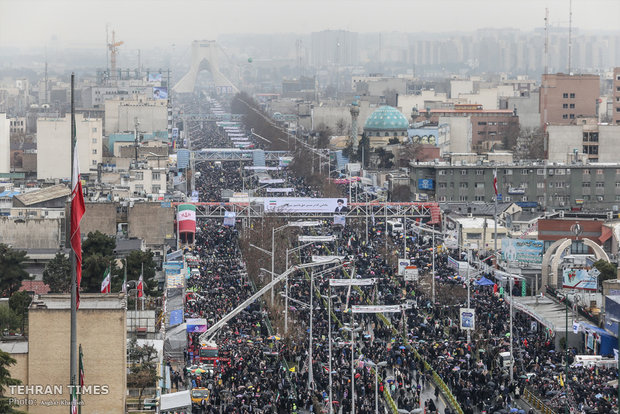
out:
{"label": "tall dark flagpole rising in front of the beige building", "polygon": [[[75,154],[75,74],[71,74],[71,183],[77,179],[77,177],[73,177],[74,168],[73,168],[73,160],[76,156]],[[73,185],[73,184],[72,184]],[[73,189],[71,189],[73,191]],[[73,201],[72,201],[73,202]],[[71,223],[71,208],[69,208],[68,220]],[[69,231],[69,240],[71,240],[71,230]],[[71,246],[69,252],[69,260],[71,260],[71,345],[70,345],[70,383],[75,386],[75,379],[77,377],[77,266],[76,266],[76,257],[75,251],[73,250],[73,245],[69,242]],[[70,412],[73,412],[73,407],[70,407]]]}

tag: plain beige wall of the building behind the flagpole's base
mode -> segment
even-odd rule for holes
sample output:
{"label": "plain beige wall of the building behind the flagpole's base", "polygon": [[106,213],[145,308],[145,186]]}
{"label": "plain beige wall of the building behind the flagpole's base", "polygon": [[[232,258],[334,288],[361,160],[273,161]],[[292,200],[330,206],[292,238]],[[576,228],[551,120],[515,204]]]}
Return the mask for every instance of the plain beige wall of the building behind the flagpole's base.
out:
{"label": "plain beige wall of the building behind the flagpole's base", "polygon": [[[85,295],[83,295],[85,296]],[[30,395],[37,400],[69,400],[69,309],[37,309],[29,312],[30,384],[64,385],[62,395]],[[77,342],[84,353],[85,385],[107,385],[107,395],[83,395],[82,412],[122,413],[126,390],[126,319],[124,309],[80,309]],[[21,407],[23,408],[23,407]],[[30,413],[64,414],[67,406],[28,407]]]}

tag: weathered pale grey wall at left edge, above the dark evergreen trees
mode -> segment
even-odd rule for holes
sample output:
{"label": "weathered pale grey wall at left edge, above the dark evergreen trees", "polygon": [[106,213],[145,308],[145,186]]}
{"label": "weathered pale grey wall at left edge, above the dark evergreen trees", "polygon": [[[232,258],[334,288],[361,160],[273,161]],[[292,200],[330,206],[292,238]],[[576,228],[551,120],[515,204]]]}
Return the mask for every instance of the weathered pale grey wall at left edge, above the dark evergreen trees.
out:
{"label": "weathered pale grey wall at left edge, above the dark evergreen trees", "polygon": [[0,243],[16,249],[57,249],[64,219],[0,217]]}

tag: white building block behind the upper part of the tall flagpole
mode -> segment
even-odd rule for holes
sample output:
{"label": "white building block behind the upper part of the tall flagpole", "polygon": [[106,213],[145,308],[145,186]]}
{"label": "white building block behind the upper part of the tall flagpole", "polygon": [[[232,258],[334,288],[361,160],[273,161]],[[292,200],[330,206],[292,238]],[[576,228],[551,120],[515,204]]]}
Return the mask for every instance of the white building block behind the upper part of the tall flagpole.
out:
{"label": "white building block behind the upper part of the tall flagpole", "polygon": [[[103,155],[101,118],[75,117],[80,174],[96,173]],[[71,179],[71,117],[37,120],[37,179]]]}

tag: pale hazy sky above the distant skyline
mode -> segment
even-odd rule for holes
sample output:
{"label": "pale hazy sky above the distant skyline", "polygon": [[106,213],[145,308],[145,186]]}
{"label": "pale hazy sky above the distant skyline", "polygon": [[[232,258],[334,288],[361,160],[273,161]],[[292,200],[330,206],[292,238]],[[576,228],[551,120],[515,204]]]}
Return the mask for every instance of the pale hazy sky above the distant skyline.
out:
{"label": "pale hazy sky above the distant skyline", "polygon": [[[531,30],[568,25],[569,0],[0,0],[0,47],[182,46],[227,33]],[[573,26],[619,30],[620,0],[573,0]]]}

